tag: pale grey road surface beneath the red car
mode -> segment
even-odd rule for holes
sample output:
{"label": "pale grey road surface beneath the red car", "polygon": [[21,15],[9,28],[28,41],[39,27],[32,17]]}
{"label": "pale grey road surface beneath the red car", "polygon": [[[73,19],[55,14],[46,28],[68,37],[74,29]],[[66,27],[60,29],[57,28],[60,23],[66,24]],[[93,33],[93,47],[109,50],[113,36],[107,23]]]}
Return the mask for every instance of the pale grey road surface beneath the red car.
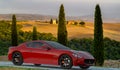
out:
{"label": "pale grey road surface beneath the red car", "polygon": [[[0,66],[12,66],[12,67],[21,67],[21,68],[37,68],[42,70],[65,70],[61,69],[59,66],[53,66],[53,65],[41,65],[39,67],[35,67],[33,64],[23,64],[22,66],[15,66],[12,64],[12,62],[0,62]],[[78,66],[73,66],[70,70],[82,70]],[[95,67],[91,66],[87,70],[120,70],[120,68],[105,68],[105,67]]]}

